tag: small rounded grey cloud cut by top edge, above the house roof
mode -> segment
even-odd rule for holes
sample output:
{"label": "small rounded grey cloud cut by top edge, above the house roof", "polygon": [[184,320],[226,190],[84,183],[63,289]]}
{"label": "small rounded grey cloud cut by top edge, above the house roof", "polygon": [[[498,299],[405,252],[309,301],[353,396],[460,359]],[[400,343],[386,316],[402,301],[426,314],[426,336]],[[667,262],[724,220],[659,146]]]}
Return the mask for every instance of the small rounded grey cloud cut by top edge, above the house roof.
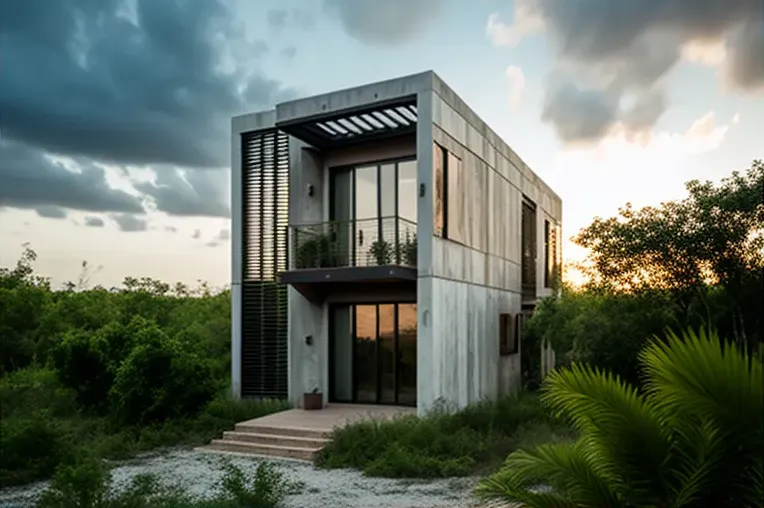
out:
{"label": "small rounded grey cloud cut by top edge, above the house roof", "polygon": [[445,0],[324,0],[351,37],[372,45],[410,42],[440,13]]}

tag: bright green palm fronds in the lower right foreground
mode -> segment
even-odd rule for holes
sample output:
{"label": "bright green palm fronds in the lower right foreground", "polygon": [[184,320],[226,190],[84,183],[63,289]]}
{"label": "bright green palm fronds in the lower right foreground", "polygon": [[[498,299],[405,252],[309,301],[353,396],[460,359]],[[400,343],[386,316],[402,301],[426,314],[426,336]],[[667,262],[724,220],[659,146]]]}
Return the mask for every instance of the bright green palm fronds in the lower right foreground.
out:
{"label": "bright green palm fronds in the lower right foreground", "polygon": [[551,373],[542,400],[580,437],[512,453],[478,494],[539,508],[761,506],[762,364],[705,329],[651,343],[640,364],[644,392],[586,364]]}

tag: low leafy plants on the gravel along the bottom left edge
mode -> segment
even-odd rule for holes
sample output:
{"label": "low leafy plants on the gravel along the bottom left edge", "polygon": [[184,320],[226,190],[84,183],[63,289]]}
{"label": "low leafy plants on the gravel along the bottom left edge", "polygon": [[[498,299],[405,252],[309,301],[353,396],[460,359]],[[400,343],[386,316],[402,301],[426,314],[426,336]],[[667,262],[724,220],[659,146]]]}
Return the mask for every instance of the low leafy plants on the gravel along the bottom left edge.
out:
{"label": "low leafy plants on the gravel along the bottom left edge", "polygon": [[43,492],[37,508],[278,508],[303,486],[269,463],[245,471],[230,463],[212,497],[189,495],[182,485],[164,485],[155,476],[139,475],[115,489],[111,474],[95,459],[62,466]]}

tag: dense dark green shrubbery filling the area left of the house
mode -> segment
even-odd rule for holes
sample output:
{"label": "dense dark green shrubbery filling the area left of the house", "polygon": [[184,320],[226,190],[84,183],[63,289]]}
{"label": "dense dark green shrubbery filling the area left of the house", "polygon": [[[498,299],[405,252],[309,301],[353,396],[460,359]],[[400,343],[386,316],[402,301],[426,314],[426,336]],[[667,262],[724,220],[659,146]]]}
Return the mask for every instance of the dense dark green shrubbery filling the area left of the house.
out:
{"label": "dense dark green shrubbery filling the area left of the house", "polygon": [[284,407],[225,396],[227,291],[130,278],[84,290],[86,273],[54,291],[34,260],[27,249],[0,270],[0,486],[48,477],[83,454],[201,444]]}

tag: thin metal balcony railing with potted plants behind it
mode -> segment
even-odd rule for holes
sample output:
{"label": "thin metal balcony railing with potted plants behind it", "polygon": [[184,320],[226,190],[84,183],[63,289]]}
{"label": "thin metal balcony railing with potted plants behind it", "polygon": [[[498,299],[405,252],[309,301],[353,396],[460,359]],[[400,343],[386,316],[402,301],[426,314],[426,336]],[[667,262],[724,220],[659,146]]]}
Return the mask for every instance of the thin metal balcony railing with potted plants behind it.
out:
{"label": "thin metal balcony railing with potted plants behind it", "polygon": [[290,269],[416,266],[416,223],[400,217],[290,226]]}

